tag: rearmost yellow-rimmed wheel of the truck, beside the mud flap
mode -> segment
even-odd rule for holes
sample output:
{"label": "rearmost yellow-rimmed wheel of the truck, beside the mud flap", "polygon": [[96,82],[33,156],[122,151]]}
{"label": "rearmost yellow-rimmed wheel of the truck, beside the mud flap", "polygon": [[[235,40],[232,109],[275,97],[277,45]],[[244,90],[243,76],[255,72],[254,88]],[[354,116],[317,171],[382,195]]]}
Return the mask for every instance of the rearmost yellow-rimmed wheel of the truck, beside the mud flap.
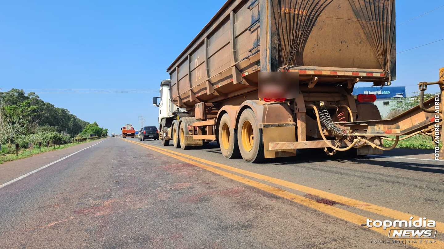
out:
{"label": "rearmost yellow-rimmed wheel of the truck, beside the mud flap", "polygon": [[238,143],[242,158],[247,162],[260,163],[264,160],[262,130],[251,109],[245,109],[239,118]]}

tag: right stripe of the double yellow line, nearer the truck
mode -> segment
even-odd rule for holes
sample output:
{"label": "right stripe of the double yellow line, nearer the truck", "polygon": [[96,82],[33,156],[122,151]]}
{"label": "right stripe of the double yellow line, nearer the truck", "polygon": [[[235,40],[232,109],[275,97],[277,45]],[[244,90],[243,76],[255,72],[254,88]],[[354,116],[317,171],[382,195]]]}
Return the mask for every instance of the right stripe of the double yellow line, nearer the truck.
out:
{"label": "right stripe of the double yellow line, nearer the truck", "polygon": [[[132,142],[132,141],[130,141],[130,142]],[[138,142],[133,142],[133,143],[139,144]],[[372,213],[375,213],[375,214],[381,214],[381,215],[384,215],[384,216],[387,216],[387,217],[390,217],[390,218],[394,218],[396,220],[407,220],[408,221],[410,219],[410,217],[413,217],[413,219],[422,218],[422,217],[419,217],[419,216],[416,216],[416,215],[413,215],[413,214],[407,214],[407,213],[404,213],[404,212],[401,212],[401,211],[397,211],[397,210],[393,210],[393,209],[390,209],[390,208],[387,208],[387,207],[377,206],[377,205],[372,204],[372,203],[358,201],[358,200],[355,200],[355,199],[352,199],[352,198],[348,198],[348,197],[345,197],[345,196],[336,195],[336,194],[333,194],[333,193],[321,191],[321,190],[318,190],[318,189],[315,189],[315,188],[312,188],[312,187],[307,187],[307,186],[304,186],[304,185],[300,185],[300,184],[297,184],[297,183],[292,183],[292,182],[285,181],[285,180],[282,180],[282,179],[277,179],[277,178],[270,177],[270,176],[267,176],[267,175],[261,175],[261,174],[258,174],[258,173],[242,170],[242,169],[239,169],[239,168],[236,168],[236,167],[230,167],[230,166],[222,164],[222,163],[215,163],[215,162],[208,161],[208,160],[205,160],[205,159],[200,159],[198,157],[189,156],[189,155],[186,155],[186,154],[182,154],[182,153],[179,153],[179,152],[174,152],[174,151],[171,151],[171,150],[168,150],[168,149],[164,149],[164,148],[159,148],[157,146],[152,146],[152,145],[147,145],[147,144],[142,144],[142,145],[149,146],[150,148],[154,147],[154,148],[157,148],[157,149],[160,149],[160,150],[164,150],[164,151],[167,151],[167,152],[170,152],[170,153],[174,153],[174,154],[179,155],[179,156],[183,156],[183,157],[186,157],[186,158],[190,158],[192,160],[196,160],[196,161],[201,162],[201,163],[206,163],[206,164],[209,164],[209,165],[212,165],[212,166],[215,166],[215,167],[220,167],[220,168],[232,171],[232,172],[236,172],[238,174],[246,175],[246,176],[253,177],[253,178],[256,178],[256,179],[261,179],[261,180],[267,181],[269,183],[274,183],[274,184],[277,184],[277,185],[281,185],[283,187],[288,187],[288,188],[291,188],[291,189],[294,189],[294,190],[297,190],[297,191],[301,191],[301,192],[304,192],[304,193],[307,193],[307,194],[310,194],[310,195],[318,195],[318,196],[320,196],[322,198],[330,199],[330,200],[335,201],[335,202],[340,202],[340,203],[345,204],[347,206],[353,206],[353,207],[359,208],[361,210],[369,211],[369,212],[372,212]],[[432,229],[436,229],[437,231],[444,233],[444,223],[443,222],[436,222],[436,227],[433,227]]]}

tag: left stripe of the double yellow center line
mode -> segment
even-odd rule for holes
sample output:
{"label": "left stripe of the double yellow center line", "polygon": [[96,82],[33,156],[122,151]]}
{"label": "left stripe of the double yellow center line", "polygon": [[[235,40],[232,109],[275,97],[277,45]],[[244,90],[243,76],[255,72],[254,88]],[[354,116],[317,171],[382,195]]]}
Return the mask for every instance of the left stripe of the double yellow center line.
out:
{"label": "left stripe of the double yellow center line", "polygon": [[[146,144],[142,144],[142,143],[139,143],[139,142],[134,142],[134,141],[131,141],[131,140],[125,140],[125,141],[133,143],[133,144],[138,144],[138,145],[140,145],[142,147],[149,148],[149,149],[151,149],[151,150],[153,150],[155,152],[159,152],[159,153],[164,154],[166,156],[170,156],[170,157],[175,158],[177,160],[180,160],[182,162],[190,163],[190,164],[192,164],[194,166],[203,168],[205,170],[211,171],[211,172],[216,173],[218,175],[222,175],[222,176],[224,176],[226,178],[238,181],[240,183],[244,183],[244,184],[252,186],[252,187],[256,187],[256,188],[258,188],[258,189],[260,189],[262,191],[266,191],[268,193],[280,196],[282,198],[285,198],[285,199],[288,199],[290,201],[299,203],[301,205],[311,207],[311,208],[316,209],[316,210],[318,210],[320,212],[323,212],[325,214],[329,214],[329,215],[331,215],[333,217],[340,218],[340,219],[348,221],[348,222],[352,222],[353,224],[356,224],[358,226],[361,226],[362,224],[365,224],[366,221],[367,221],[367,217],[361,216],[359,214],[354,214],[352,212],[349,212],[347,210],[343,210],[343,209],[337,208],[335,206],[329,206],[329,205],[326,205],[326,204],[323,204],[323,203],[319,203],[319,202],[316,202],[316,201],[314,201],[312,199],[309,199],[309,198],[306,198],[306,197],[303,197],[303,196],[300,196],[300,195],[296,195],[296,194],[293,194],[291,192],[288,192],[288,191],[285,191],[285,190],[282,190],[282,189],[279,189],[279,188],[276,188],[276,187],[271,187],[269,185],[253,181],[253,180],[244,178],[244,177],[239,176],[239,175],[234,175],[232,173],[229,173],[229,172],[226,172],[226,171],[222,171],[222,170],[219,170],[217,168],[210,167],[208,165],[195,162],[193,160],[186,159],[183,156],[175,155],[175,153],[170,153],[170,152],[172,152],[170,150],[160,149],[159,147],[156,147],[156,146],[146,145]],[[181,154],[181,153],[179,153],[179,154]],[[182,155],[184,155],[184,154],[182,154]],[[384,230],[382,227],[374,227],[373,226],[373,227],[370,227],[370,228],[369,227],[366,227],[366,228],[368,228],[370,230],[373,230],[373,231],[375,231],[377,233],[381,233],[382,235],[385,235],[385,236],[387,236],[388,233],[389,233],[388,230]],[[387,238],[387,240],[391,240],[391,239]],[[408,241],[412,241],[412,240],[407,240],[407,239],[396,239],[396,241],[404,241],[405,244],[412,245],[412,246],[415,246],[415,247],[418,247],[418,248],[444,248],[444,242],[443,241],[438,241],[438,240],[436,240],[436,242],[432,243],[432,244],[425,244],[425,243],[423,243],[423,244],[420,244],[420,243],[412,244],[412,243],[408,243]]]}

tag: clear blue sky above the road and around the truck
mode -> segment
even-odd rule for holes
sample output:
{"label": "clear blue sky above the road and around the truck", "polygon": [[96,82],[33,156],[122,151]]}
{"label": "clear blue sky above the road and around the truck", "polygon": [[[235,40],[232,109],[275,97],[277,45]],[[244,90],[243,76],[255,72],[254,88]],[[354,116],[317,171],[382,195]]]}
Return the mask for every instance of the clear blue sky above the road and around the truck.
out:
{"label": "clear blue sky above the road and around the truck", "polygon": [[[0,88],[158,89],[166,67],[224,3],[0,0]],[[443,4],[397,1],[397,51],[444,38],[444,8],[399,25]],[[417,82],[436,81],[440,67],[444,41],[398,54],[393,86],[416,91]],[[39,95],[110,134],[126,123],[139,128],[140,115],[157,125],[151,99],[158,93]]]}

